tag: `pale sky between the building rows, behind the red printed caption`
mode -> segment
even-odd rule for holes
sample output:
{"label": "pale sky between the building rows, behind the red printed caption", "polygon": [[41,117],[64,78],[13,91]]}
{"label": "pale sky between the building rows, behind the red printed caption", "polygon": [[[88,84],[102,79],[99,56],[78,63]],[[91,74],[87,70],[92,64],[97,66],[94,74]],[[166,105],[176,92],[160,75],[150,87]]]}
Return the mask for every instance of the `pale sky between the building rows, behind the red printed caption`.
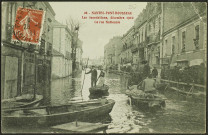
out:
{"label": "pale sky between the building rows, behind the red printed caption", "polygon": [[[79,39],[83,41],[83,58],[99,58],[104,56],[104,46],[114,36],[122,36],[133,25],[136,17],[146,7],[146,2],[50,2],[56,13],[55,19],[66,24],[67,19],[79,22]],[[132,15],[92,15],[93,11],[132,12]],[[84,12],[88,12],[87,15]],[[91,14],[89,14],[91,13]],[[88,17],[82,19],[82,16]],[[131,16],[134,19],[120,20],[120,24],[96,24],[94,21],[103,19],[89,19],[89,16],[103,16],[110,18]],[[106,21],[106,20],[104,20]],[[118,21],[108,20],[108,21]]]}

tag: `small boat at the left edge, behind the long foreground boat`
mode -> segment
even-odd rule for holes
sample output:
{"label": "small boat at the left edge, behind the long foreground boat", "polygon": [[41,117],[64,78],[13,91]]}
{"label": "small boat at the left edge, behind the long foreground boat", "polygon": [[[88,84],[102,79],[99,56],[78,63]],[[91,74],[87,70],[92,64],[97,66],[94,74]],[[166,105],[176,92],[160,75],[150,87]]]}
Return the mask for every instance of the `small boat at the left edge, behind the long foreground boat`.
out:
{"label": "small boat at the left edge, behind the long foreground boat", "polygon": [[33,107],[37,106],[42,99],[42,95],[36,95],[35,99],[33,99],[33,95],[22,95],[16,98],[4,99],[1,102],[2,109]]}

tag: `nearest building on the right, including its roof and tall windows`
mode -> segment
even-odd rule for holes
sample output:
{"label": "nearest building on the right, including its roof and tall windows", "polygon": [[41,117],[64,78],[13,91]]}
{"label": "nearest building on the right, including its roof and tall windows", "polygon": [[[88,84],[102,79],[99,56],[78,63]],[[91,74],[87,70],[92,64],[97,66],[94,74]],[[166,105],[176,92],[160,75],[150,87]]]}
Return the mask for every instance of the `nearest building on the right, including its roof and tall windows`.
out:
{"label": "nearest building on the right, including its roof and tall windows", "polygon": [[[206,64],[205,3],[163,3],[163,10],[162,64],[168,63],[170,67]],[[173,21],[173,17],[177,19]]]}

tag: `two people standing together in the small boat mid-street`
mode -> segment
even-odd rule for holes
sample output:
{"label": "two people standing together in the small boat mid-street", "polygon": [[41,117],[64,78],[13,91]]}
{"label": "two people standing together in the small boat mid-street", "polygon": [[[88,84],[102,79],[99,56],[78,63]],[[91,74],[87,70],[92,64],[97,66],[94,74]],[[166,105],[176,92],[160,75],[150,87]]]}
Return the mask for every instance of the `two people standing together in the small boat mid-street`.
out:
{"label": "two people standing together in the small boat mid-street", "polygon": [[98,86],[104,87],[105,72],[103,71],[103,68],[100,69],[100,75],[98,76],[98,78],[97,78],[97,69],[95,68],[95,66],[92,66],[91,70],[86,74],[89,73],[91,73],[91,87],[95,87],[98,80],[99,80]]}

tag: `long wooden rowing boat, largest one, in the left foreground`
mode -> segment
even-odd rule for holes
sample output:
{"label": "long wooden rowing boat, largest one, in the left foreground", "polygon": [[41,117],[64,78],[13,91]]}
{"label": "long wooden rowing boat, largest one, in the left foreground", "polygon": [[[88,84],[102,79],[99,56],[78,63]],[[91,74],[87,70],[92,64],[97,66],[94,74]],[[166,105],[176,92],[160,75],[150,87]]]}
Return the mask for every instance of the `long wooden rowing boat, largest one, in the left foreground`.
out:
{"label": "long wooden rowing boat, largest one, in the left foreground", "polygon": [[65,105],[3,110],[2,124],[44,127],[75,120],[85,121],[108,115],[114,104],[112,99],[99,99]]}

